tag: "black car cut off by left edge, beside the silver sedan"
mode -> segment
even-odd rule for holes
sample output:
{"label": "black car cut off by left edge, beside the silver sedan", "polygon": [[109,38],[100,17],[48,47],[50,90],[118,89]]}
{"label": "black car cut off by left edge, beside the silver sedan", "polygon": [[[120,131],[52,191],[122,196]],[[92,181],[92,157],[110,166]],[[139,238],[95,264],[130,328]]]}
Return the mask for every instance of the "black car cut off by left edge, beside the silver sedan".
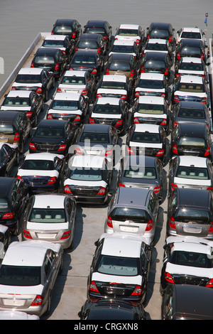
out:
{"label": "black car cut off by left edge, beside the silver sedan", "polygon": [[28,203],[28,187],[18,178],[0,178],[0,224],[14,235],[20,230],[21,215]]}

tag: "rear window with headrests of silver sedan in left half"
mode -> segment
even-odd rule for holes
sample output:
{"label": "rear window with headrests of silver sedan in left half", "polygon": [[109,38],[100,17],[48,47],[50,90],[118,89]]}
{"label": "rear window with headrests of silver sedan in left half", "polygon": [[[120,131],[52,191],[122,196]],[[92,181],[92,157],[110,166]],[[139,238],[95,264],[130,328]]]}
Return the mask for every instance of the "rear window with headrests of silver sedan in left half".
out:
{"label": "rear window with headrests of silver sedan in left half", "polygon": [[64,209],[33,208],[28,221],[55,224],[58,222],[66,222],[67,220]]}

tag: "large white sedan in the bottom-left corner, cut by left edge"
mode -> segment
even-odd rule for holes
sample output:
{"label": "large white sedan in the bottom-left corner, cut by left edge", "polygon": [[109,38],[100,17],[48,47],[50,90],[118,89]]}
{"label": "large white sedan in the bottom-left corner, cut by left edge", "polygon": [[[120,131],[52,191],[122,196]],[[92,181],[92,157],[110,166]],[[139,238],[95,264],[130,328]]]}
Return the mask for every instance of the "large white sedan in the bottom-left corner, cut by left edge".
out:
{"label": "large white sedan in the bottom-left corner, cut by left edge", "polygon": [[35,316],[50,312],[53,287],[62,271],[60,244],[12,242],[0,268],[0,310]]}

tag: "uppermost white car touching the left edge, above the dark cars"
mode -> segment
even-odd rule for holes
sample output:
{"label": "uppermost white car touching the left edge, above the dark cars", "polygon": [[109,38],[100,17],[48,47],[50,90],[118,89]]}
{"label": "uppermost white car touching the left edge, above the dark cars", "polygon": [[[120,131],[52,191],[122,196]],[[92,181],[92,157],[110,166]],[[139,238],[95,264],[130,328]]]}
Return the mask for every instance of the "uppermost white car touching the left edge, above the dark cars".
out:
{"label": "uppermost white car touching the left edge, above the dark cars", "polygon": [[44,110],[44,101],[42,95],[39,95],[31,90],[11,90],[4,97],[0,111],[15,110],[24,112],[31,124],[36,126],[38,115]]}

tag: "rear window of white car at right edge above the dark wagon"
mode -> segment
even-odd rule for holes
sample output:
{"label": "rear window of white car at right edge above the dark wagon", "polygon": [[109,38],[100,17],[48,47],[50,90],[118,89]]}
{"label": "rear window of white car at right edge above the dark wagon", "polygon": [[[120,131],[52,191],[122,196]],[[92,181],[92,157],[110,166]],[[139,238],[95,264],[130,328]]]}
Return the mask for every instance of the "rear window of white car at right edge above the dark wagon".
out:
{"label": "rear window of white car at right edge above the dark wagon", "polygon": [[209,180],[207,168],[179,166],[175,175],[177,178],[193,178],[197,180]]}

